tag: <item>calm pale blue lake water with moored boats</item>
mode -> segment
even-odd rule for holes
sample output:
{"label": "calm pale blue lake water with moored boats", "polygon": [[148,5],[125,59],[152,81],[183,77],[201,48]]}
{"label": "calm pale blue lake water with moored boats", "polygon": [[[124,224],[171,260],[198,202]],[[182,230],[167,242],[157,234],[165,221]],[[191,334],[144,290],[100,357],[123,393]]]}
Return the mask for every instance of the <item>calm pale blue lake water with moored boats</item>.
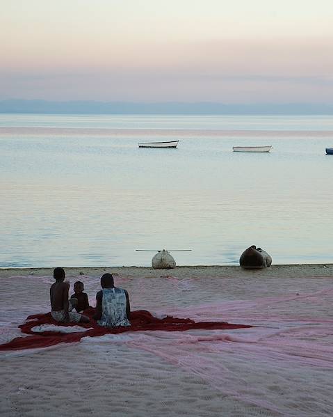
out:
{"label": "calm pale blue lake water with moored boats", "polygon": [[329,146],[329,116],[2,114],[0,267],[333,262]]}

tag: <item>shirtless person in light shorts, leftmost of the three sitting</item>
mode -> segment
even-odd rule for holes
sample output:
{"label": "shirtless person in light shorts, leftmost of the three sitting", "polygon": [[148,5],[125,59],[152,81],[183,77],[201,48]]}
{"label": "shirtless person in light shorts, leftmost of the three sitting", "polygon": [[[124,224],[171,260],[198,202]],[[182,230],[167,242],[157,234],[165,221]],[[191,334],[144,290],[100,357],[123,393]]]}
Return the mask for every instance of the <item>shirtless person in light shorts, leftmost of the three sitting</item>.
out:
{"label": "shirtless person in light shorts, leftmost of the three sitting", "polygon": [[88,323],[90,320],[85,315],[73,313],[70,311],[70,302],[68,301],[68,290],[70,284],[65,283],[65,271],[63,268],[54,269],[54,279],[56,282],[50,288],[51,316],[56,322],[66,323]]}

